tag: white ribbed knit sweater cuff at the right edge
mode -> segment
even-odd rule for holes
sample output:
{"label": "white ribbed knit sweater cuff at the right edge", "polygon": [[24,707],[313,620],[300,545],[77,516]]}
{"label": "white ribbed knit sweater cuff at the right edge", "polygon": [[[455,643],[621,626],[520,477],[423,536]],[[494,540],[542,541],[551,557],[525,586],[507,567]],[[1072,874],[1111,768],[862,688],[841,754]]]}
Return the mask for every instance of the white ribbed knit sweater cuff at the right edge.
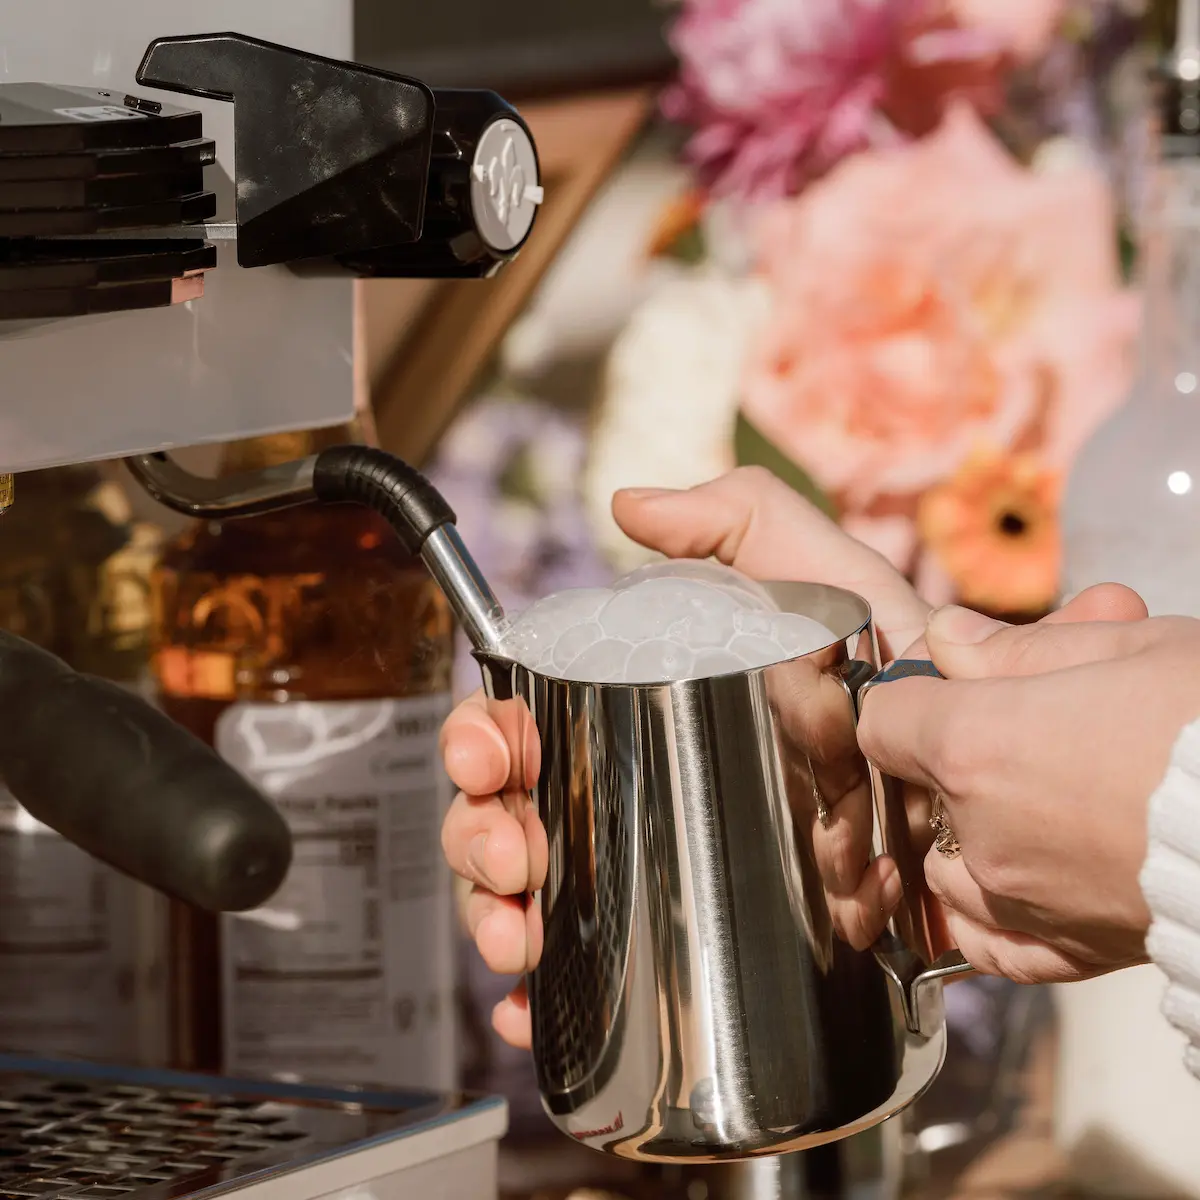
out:
{"label": "white ribbed knit sweater cuff at the right edge", "polygon": [[1146,953],[1168,978],[1163,1014],[1187,1034],[1184,1061],[1200,1075],[1200,721],[1180,734],[1151,798],[1141,889],[1152,914]]}

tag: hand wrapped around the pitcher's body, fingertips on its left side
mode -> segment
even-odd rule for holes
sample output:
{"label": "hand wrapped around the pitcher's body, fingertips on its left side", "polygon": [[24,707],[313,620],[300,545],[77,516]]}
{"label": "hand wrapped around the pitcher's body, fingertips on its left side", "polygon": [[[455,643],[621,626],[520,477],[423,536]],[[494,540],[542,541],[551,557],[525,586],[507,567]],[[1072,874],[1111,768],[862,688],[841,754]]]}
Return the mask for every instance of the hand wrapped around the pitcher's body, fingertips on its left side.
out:
{"label": "hand wrapped around the pitcher's body, fingertips on its left side", "polygon": [[[686,492],[618,492],[613,514],[629,536],[671,558],[708,558],[760,580],[805,580],[847,588],[875,613],[886,655],[925,628],[929,606],[882,556],[845,534],[769,472],[743,468]],[[473,887],[467,926],[487,965],[520,974],[541,954],[541,919],[524,894],[546,877],[546,835],[529,802],[536,779],[536,730],[523,706],[461,704],[442,734],[446,770],[460,788],[442,832],[451,868]],[[895,868],[886,859],[863,872],[864,856],[844,805],[828,829],[814,829],[814,850],[832,892],[830,907],[878,911]],[[869,805],[865,811],[869,814]],[[859,830],[858,839],[862,834]],[[870,830],[865,834],[869,844]],[[854,869],[846,864],[853,862]],[[857,907],[856,907],[856,896]],[[836,919],[836,917],[835,917]],[[850,918],[847,918],[850,919]],[[523,985],[502,1002],[493,1024],[514,1045],[529,1045]]]}

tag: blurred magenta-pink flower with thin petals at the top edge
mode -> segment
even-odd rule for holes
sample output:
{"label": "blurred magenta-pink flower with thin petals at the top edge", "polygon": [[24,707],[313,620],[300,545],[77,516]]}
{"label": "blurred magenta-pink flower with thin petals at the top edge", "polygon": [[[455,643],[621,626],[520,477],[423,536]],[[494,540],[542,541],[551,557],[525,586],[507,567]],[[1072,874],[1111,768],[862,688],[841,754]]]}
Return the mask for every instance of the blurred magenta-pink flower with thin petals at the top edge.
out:
{"label": "blurred magenta-pink flower with thin petals at the top edge", "polygon": [[685,0],[665,114],[716,194],[778,199],[850,154],[1002,101],[1002,44],[947,0]]}

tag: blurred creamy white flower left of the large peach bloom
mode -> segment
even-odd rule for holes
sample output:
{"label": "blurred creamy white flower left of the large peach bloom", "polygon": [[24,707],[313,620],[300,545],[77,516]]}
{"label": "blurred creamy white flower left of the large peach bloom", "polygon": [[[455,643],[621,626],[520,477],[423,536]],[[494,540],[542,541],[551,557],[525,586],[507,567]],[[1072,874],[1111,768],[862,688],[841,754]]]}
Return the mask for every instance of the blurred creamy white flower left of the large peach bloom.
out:
{"label": "blurred creamy white flower left of the large peach bloom", "polygon": [[638,307],[612,347],[583,478],[602,552],[617,570],[655,556],[612,520],[623,487],[694,487],[733,468],[742,366],[768,312],[757,280],[696,271]]}

